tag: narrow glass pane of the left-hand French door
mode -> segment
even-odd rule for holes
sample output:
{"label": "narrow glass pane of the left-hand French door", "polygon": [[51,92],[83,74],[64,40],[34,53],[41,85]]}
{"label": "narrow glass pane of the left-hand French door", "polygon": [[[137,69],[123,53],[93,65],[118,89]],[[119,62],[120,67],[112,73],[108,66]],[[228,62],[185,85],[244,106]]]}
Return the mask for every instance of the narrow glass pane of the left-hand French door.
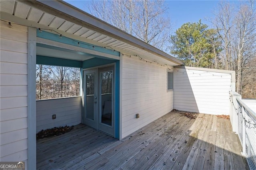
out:
{"label": "narrow glass pane of the left-hand French door", "polygon": [[94,73],[86,74],[86,118],[94,120]]}

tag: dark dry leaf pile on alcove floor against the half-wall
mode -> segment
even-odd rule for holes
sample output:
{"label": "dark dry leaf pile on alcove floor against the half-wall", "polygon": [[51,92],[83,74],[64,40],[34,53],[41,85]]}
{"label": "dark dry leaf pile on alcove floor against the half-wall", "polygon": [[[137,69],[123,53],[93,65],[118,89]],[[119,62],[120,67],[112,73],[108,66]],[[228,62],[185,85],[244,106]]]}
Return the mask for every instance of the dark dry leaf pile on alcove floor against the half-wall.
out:
{"label": "dark dry leaf pile on alcove floor against the half-wall", "polygon": [[59,136],[61,134],[69,132],[73,128],[74,126],[71,126],[71,127],[65,126],[65,127],[54,127],[54,128],[48,128],[46,130],[41,130],[36,134],[36,139],[48,138],[51,136]]}

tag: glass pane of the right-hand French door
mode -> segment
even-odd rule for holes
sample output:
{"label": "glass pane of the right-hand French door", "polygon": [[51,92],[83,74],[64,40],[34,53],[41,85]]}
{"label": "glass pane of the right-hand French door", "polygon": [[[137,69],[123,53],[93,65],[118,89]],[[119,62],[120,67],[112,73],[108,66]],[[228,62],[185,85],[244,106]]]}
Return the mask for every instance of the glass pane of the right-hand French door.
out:
{"label": "glass pane of the right-hand French door", "polygon": [[113,71],[100,73],[101,123],[112,126],[112,80]]}

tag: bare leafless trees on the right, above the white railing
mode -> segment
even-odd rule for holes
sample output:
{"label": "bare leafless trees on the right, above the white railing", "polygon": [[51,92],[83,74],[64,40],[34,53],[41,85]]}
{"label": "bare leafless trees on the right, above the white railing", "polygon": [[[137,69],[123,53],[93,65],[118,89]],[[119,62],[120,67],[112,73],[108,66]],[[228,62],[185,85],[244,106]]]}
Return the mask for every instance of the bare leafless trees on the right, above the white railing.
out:
{"label": "bare leafless trees on the right, above the white railing", "polygon": [[256,9],[253,1],[242,1],[237,9],[228,2],[221,2],[211,22],[222,40],[225,69],[236,71],[236,91],[242,97],[254,93]]}

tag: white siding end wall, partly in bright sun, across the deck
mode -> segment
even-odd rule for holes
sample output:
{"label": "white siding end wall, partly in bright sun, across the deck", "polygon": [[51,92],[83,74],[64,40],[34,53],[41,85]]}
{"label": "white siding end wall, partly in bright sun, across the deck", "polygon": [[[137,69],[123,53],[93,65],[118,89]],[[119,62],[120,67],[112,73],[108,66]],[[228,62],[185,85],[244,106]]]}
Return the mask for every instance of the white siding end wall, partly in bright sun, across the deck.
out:
{"label": "white siding end wall, partly in bright sun, across the deck", "polygon": [[229,115],[229,92],[234,89],[234,80],[230,71],[220,71],[196,67],[174,68],[174,109]]}

